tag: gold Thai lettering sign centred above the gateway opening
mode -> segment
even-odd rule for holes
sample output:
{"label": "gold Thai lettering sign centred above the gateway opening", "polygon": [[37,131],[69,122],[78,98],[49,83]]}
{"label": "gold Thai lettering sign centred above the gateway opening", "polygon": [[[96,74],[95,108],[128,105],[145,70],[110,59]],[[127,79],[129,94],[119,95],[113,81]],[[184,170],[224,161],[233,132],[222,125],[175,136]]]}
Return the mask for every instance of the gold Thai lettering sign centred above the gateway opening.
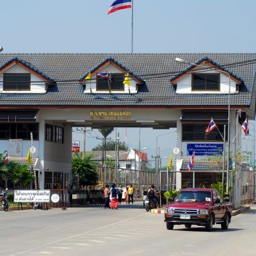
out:
{"label": "gold Thai lettering sign centred above the gateway opening", "polygon": [[90,111],[94,120],[131,120],[131,111]]}

